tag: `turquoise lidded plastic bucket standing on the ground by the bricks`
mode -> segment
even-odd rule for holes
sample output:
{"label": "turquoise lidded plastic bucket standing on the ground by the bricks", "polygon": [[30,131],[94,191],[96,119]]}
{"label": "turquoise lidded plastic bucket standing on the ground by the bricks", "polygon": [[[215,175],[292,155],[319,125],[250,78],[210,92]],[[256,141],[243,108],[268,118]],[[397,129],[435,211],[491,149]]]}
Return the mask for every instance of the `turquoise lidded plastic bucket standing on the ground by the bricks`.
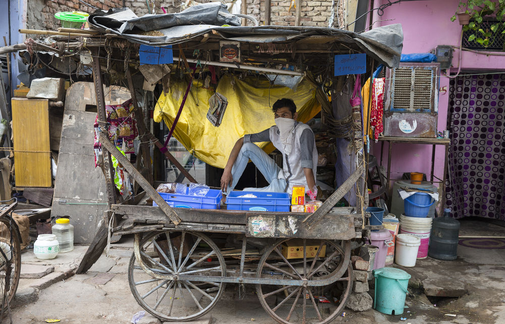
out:
{"label": "turquoise lidded plastic bucket standing on the ground by the bricks", "polygon": [[411,275],[401,269],[390,267],[375,269],[373,275],[374,309],[388,315],[402,314]]}

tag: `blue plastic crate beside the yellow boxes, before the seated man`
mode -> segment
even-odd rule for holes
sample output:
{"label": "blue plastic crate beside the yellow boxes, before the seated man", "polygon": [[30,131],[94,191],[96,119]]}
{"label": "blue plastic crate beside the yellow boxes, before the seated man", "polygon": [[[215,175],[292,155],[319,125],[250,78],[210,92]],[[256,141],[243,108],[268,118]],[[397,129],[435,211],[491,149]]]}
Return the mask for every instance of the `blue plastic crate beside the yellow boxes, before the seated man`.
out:
{"label": "blue plastic crate beside the yellow boxes, before the seated man", "polygon": [[[246,194],[258,198],[239,198]],[[226,197],[228,210],[251,211],[289,211],[291,199],[287,193],[269,193],[259,191],[232,191]]]}

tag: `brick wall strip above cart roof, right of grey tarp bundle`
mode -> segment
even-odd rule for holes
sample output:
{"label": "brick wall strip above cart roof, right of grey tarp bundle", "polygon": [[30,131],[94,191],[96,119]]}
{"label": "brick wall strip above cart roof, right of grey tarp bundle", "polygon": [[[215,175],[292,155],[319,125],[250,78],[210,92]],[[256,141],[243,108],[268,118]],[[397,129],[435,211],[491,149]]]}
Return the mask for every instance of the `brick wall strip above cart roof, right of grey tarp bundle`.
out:
{"label": "brick wall strip above cart roof, right of grey tarp bundle", "polygon": [[[341,14],[344,10],[344,1],[338,2],[335,0],[335,7],[337,3],[340,4],[339,13]],[[294,26],[295,9],[293,6],[291,11],[288,12],[290,4],[290,0],[271,1],[271,25]],[[331,0],[301,1],[300,26],[328,27],[331,16],[331,5]],[[335,8],[335,13],[336,12],[337,8]],[[265,0],[247,0],[247,15],[254,16],[256,19],[260,20],[260,24],[263,25],[265,23]],[[343,18],[343,15],[341,16]],[[343,25],[342,18],[339,19],[341,26]],[[248,25],[250,24],[250,21],[248,21]],[[335,14],[333,27],[337,28],[338,25],[337,15]]]}

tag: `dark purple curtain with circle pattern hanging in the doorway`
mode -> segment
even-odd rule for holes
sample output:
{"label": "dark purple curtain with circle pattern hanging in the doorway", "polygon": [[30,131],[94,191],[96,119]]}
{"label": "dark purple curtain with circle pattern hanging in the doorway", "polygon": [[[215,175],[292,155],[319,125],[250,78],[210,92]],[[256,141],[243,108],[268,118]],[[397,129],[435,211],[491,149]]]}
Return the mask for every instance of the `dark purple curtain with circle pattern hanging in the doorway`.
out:
{"label": "dark purple curtain with circle pattern hanging in the doorway", "polygon": [[452,216],[505,220],[505,74],[450,80],[447,206]]}

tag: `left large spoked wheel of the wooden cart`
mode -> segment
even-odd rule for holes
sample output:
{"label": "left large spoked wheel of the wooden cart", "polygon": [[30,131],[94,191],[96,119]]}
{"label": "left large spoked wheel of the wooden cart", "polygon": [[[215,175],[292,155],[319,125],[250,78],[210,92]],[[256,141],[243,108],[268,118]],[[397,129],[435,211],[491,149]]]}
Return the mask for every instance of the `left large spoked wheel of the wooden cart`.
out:
{"label": "left large spoked wheel of the wooden cart", "polygon": [[[225,289],[224,283],[197,278],[226,276],[223,255],[203,234],[175,230],[151,233],[143,239],[136,235],[134,249],[128,267],[130,289],[142,308],[162,320],[203,316]],[[179,280],[178,275],[195,278]]]}

